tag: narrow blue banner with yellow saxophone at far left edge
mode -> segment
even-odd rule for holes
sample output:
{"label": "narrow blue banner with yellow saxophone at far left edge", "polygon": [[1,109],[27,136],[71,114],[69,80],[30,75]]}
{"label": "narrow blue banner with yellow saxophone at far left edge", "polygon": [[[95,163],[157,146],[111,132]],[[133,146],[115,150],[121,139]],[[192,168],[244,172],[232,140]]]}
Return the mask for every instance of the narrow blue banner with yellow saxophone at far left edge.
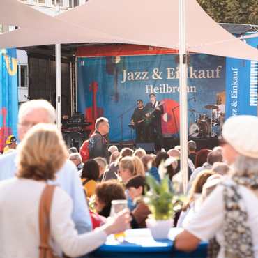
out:
{"label": "narrow blue banner with yellow saxophone at far left edge", "polygon": [[0,49],[0,151],[9,135],[17,137],[18,87],[16,49]]}

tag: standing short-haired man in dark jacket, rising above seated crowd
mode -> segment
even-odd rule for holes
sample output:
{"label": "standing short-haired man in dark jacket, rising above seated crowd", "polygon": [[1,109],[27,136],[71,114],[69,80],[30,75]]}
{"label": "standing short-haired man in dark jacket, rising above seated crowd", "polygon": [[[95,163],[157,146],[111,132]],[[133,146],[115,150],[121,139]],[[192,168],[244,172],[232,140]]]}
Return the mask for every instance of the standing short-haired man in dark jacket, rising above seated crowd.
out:
{"label": "standing short-haired man in dark jacket, rising above seated crowd", "polygon": [[109,163],[109,152],[104,138],[108,132],[108,120],[105,117],[98,118],[95,123],[95,131],[89,140],[89,158],[103,157]]}

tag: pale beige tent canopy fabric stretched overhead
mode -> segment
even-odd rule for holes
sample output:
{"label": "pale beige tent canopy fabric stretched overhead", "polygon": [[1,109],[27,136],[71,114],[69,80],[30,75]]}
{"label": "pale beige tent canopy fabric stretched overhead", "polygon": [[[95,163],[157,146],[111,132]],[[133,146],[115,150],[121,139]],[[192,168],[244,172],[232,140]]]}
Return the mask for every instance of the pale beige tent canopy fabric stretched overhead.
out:
{"label": "pale beige tent canopy fabric stretched overhead", "polygon": [[[130,43],[179,48],[178,0],[91,0],[54,17],[17,0],[0,0],[0,48],[56,43]],[[258,61],[258,50],[235,38],[196,0],[186,1],[187,50]],[[258,33],[257,33],[258,36]]]}

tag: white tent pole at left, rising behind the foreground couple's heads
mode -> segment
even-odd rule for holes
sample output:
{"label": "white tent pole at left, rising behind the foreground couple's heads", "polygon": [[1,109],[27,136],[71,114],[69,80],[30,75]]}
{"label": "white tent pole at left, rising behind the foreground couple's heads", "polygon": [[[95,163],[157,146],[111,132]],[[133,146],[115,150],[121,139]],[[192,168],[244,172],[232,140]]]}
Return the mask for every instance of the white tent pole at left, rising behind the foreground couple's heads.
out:
{"label": "white tent pole at left, rising behind the foreground couple's heads", "polygon": [[[56,15],[59,14],[59,4],[56,4]],[[61,132],[61,44],[56,44],[56,126]]]}

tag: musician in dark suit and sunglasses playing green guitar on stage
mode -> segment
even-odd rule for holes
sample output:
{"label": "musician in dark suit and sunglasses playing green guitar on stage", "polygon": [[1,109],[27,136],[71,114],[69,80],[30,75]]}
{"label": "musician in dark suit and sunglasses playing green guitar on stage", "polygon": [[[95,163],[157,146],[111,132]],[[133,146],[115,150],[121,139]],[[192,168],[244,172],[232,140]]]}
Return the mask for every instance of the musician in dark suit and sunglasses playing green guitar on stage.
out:
{"label": "musician in dark suit and sunglasses playing green guitar on stage", "polygon": [[149,97],[151,98],[151,102],[146,104],[146,107],[145,107],[146,112],[150,111],[151,109],[155,109],[155,111],[151,115],[149,113],[146,113],[147,118],[151,119],[153,115],[155,116],[151,119],[151,123],[149,123],[150,140],[151,142],[155,142],[155,138],[154,138],[154,129],[155,129],[160,142],[160,148],[162,149],[162,151],[165,151],[164,141],[162,137],[162,129],[161,129],[161,115],[164,114],[164,109],[162,105],[158,106],[160,102],[156,100],[156,96],[154,93],[149,94]]}

